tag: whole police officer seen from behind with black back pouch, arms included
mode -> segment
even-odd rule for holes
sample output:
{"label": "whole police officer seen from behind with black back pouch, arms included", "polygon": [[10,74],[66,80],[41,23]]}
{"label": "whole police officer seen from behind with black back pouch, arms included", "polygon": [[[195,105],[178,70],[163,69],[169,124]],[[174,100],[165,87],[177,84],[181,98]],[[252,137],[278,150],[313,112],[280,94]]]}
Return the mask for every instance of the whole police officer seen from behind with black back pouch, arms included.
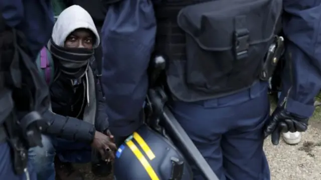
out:
{"label": "whole police officer seen from behind with black back pouch, arms included", "polygon": [[[125,7],[124,2],[122,8]],[[233,0],[158,2],[161,3],[154,4],[157,20],[155,50],[169,56],[167,85],[173,97],[170,106],[176,118],[221,180],[270,179],[263,152],[264,137],[273,133],[272,142],[277,144],[281,132],[306,130],[307,119],[314,110],[313,98],[320,90],[320,58],[316,51],[319,46],[316,37],[320,2],[260,0],[255,1],[255,6],[252,4],[254,1]],[[280,16],[281,3],[284,3],[281,18],[286,38],[287,68],[283,73],[281,102],[269,118],[268,83],[260,80],[258,74]],[[258,17],[262,19],[256,19]],[[115,19],[119,20],[110,18],[108,23]],[[125,26],[125,23],[121,25]],[[116,30],[128,29],[107,29],[103,34],[103,44],[107,42],[104,38],[107,35],[115,43],[123,41],[113,36]],[[121,50],[117,54],[123,57],[124,50],[128,51],[128,48],[113,47],[110,39],[110,51],[117,53]],[[111,64],[120,62],[107,59],[106,55],[110,54],[104,53],[103,79],[106,79],[107,87],[107,82],[112,84],[109,82],[112,75],[124,71],[119,69],[120,65],[119,71],[111,69]],[[121,63],[133,62],[133,58],[129,59],[123,57]],[[141,68],[138,65],[133,67],[132,73]],[[118,78],[117,82],[129,82],[129,77],[124,76],[127,73],[123,73],[123,78]],[[124,94],[122,90],[126,88],[121,87],[105,89],[105,92]],[[117,102],[126,104],[122,99]],[[111,103],[109,106],[109,110],[114,112],[113,117],[128,112],[127,108],[121,110],[123,106],[111,106]],[[131,114],[138,111],[137,106],[130,109]],[[124,134],[134,129],[129,126],[134,122],[130,118],[110,120],[114,120],[117,130],[126,132]],[[196,168],[194,178],[204,179]]]}

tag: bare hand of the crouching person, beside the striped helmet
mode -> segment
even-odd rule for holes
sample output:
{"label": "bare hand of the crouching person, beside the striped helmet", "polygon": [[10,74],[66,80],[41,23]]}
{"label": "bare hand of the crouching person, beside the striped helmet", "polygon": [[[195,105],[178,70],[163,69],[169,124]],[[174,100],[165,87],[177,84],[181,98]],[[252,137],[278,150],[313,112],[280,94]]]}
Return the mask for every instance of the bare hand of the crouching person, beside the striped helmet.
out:
{"label": "bare hand of the crouching person, beside the striped helmet", "polygon": [[110,161],[115,158],[114,151],[117,150],[117,147],[111,137],[96,131],[91,146],[101,154],[103,160]]}

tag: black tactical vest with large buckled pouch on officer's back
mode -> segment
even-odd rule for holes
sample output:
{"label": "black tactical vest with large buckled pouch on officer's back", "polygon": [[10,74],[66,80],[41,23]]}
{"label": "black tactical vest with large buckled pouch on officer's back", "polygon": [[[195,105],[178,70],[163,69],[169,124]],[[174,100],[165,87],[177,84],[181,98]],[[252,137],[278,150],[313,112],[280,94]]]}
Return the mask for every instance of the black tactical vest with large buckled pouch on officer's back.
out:
{"label": "black tactical vest with large buckled pouch on officer's back", "polygon": [[167,84],[191,102],[234,94],[271,77],[283,38],[281,0],[188,1],[155,6],[155,50],[168,57]]}

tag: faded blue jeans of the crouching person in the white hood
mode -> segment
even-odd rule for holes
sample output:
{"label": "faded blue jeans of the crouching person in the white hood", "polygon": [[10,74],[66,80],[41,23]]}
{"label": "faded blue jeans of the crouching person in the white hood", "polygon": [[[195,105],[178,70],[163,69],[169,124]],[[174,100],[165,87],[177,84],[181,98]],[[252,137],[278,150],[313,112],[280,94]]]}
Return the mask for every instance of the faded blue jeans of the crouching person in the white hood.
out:
{"label": "faded blue jeans of the crouching person in the white hood", "polygon": [[74,142],[42,135],[43,147],[29,150],[29,159],[39,180],[55,180],[56,154],[63,162],[87,163],[91,161],[91,147],[87,143]]}

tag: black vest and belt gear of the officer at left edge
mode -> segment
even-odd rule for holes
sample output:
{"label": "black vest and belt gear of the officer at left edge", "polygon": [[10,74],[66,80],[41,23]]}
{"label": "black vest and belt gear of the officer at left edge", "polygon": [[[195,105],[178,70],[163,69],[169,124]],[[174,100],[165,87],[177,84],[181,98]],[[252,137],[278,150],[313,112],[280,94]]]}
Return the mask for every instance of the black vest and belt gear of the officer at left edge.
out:
{"label": "black vest and belt gear of the officer at left edge", "polygon": [[41,129],[48,126],[39,113],[48,109],[40,106],[46,102],[39,91],[41,77],[24,40],[0,17],[0,139],[6,138],[11,146],[16,174],[27,172],[28,149],[42,146]]}

